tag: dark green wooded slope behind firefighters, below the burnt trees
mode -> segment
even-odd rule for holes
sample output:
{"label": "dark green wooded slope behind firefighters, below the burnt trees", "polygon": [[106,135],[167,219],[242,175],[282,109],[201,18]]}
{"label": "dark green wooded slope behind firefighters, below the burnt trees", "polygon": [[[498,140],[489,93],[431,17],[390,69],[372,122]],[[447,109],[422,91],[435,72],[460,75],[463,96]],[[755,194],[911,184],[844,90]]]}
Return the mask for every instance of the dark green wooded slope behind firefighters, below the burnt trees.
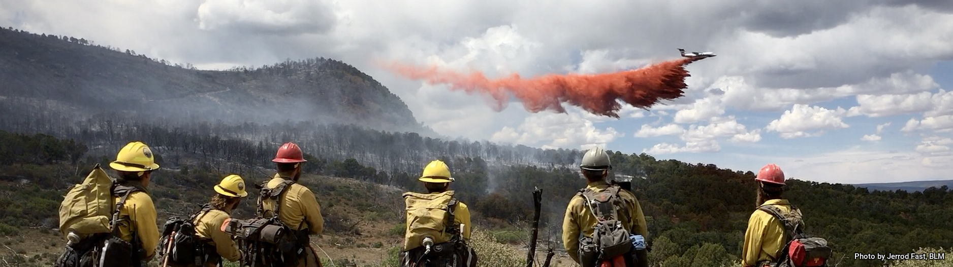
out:
{"label": "dark green wooded slope behind firefighters, below the burnt trees", "polygon": [[[0,133],[3,162],[0,177],[20,185],[7,186],[8,193],[0,195],[0,230],[10,233],[18,228],[53,227],[60,194],[72,183],[81,180],[94,162],[109,162],[110,157],[84,157],[89,148],[74,141],[56,141],[45,135]],[[211,137],[210,140],[215,139]],[[250,165],[222,164],[229,150],[209,152],[208,158],[193,147],[191,153],[174,145],[153,142],[162,147],[156,155],[163,166],[156,174],[157,203],[165,213],[185,210],[182,203],[204,200],[203,185],[213,184],[227,173],[239,173],[251,181],[265,181],[270,173],[271,147],[262,148],[258,160]],[[230,144],[239,150],[255,151],[258,144],[238,142]],[[109,147],[111,150],[120,147]],[[197,149],[196,149],[197,148]],[[106,149],[104,147],[103,149]],[[114,153],[114,152],[112,152]],[[13,155],[20,155],[14,157]],[[175,162],[173,157],[180,157]],[[401,190],[419,191],[416,173],[388,174],[376,171],[354,159],[335,161],[307,155],[310,163],[306,171],[358,181],[379,183]],[[711,164],[689,164],[674,160],[659,161],[641,155],[612,154],[616,172],[641,172],[647,178],[633,181],[633,188],[648,217],[652,260],[665,266],[719,266],[720,262],[738,259],[746,221],[754,208],[754,174],[750,171],[720,169]],[[444,159],[450,160],[446,155]],[[489,166],[480,158],[452,157],[449,161],[457,182],[454,188],[461,199],[471,205],[477,226],[483,229],[516,231],[515,236],[497,237],[519,243],[525,236],[525,225],[532,218],[532,191],[543,190],[544,214],[540,238],[558,241],[562,212],[569,198],[584,182],[574,169],[566,167],[540,168],[536,166]],[[191,159],[182,161],[181,159]],[[240,161],[233,159],[235,161]],[[59,167],[44,167],[59,162]],[[72,162],[75,162],[73,165]],[[64,167],[70,166],[70,167]],[[422,167],[417,164],[416,169]],[[53,170],[54,173],[52,172]],[[498,184],[490,190],[488,178],[496,177]],[[312,183],[314,181],[309,181]],[[312,183],[315,184],[315,183]],[[316,184],[321,184],[320,182]],[[928,188],[923,192],[867,191],[851,185],[792,180],[788,182],[787,198],[803,210],[807,231],[828,238],[836,250],[841,266],[882,266],[879,260],[854,259],[854,253],[912,252],[920,247],[953,246],[953,191],[946,187]],[[326,187],[319,187],[326,188]],[[367,187],[370,188],[370,187]],[[328,189],[325,189],[328,190]],[[370,190],[370,189],[359,189]],[[380,189],[374,189],[380,190]],[[328,194],[316,189],[317,194]],[[354,194],[354,193],[350,193]],[[379,193],[376,193],[379,194]],[[254,197],[254,194],[253,196]],[[22,199],[28,201],[20,201]],[[399,202],[397,196],[392,196]],[[387,200],[384,202],[393,202]],[[178,204],[172,204],[178,203]],[[245,203],[241,213],[250,215],[253,206]],[[386,207],[380,206],[378,207]],[[388,205],[390,206],[390,205]],[[368,206],[370,207],[370,206]],[[364,212],[373,210],[361,209]],[[391,206],[394,208],[395,206]],[[395,211],[376,211],[391,214]],[[347,230],[359,214],[329,209],[326,216],[337,226],[330,229]],[[379,215],[378,215],[379,216]],[[162,216],[160,216],[162,217]],[[399,225],[399,214],[392,214],[394,225]],[[44,225],[45,224],[45,225]],[[514,228],[513,225],[519,225]],[[11,230],[12,229],[12,230]],[[558,247],[558,244],[551,243]],[[541,248],[545,248],[542,246]]]}

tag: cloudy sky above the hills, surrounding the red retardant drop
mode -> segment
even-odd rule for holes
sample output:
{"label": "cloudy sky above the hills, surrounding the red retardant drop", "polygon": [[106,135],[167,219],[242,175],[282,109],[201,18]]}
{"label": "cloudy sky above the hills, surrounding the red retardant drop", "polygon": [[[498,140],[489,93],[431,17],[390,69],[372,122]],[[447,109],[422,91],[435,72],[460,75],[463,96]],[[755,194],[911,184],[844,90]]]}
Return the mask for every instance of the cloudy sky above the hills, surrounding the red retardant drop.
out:
{"label": "cloudy sky above the hills, surrounding the red retardant drop", "polygon": [[[417,120],[470,140],[752,171],[774,162],[811,181],[953,179],[953,9],[895,2],[0,0],[0,26],[204,69],[334,58],[390,88]],[[625,107],[619,120],[515,102],[497,112],[484,97],[375,66],[600,73],[677,59],[676,48],[719,56],[686,67],[686,97]]]}

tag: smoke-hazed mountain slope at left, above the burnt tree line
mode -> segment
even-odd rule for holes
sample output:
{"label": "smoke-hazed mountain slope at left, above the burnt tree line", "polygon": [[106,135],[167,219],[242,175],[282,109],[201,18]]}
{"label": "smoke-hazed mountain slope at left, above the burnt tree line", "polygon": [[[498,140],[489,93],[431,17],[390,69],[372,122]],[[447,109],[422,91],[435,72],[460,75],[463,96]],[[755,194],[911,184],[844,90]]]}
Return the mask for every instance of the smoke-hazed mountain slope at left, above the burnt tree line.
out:
{"label": "smoke-hazed mountain slope at left, above the burnt tree line", "polygon": [[325,58],[198,70],[82,38],[0,29],[0,81],[8,119],[71,124],[106,112],[175,124],[288,120],[432,134],[386,87]]}

